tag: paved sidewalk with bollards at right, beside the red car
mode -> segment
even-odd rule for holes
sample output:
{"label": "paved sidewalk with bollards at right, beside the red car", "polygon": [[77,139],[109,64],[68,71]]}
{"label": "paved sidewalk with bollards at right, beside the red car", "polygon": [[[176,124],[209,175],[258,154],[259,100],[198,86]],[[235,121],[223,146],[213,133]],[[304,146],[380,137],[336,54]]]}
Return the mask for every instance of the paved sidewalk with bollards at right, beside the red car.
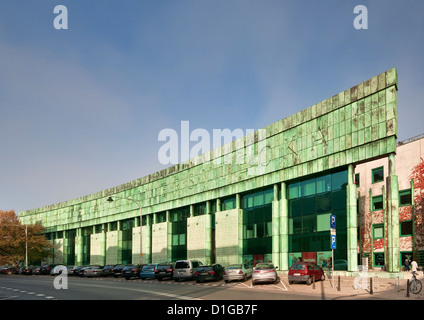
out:
{"label": "paved sidewalk with bollards at right, beside the red car", "polygon": [[[410,278],[410,277],[409,277]],[[281,274],[280,279],[284,281],[289,291],[299,294],[316,294],[323,299],[391,299],[391,300],[424,300],[424,288],[419,294],[409,294],[407,297],[407,280],[405,279],[389,279],[376,275],[372,275],[372,287],[370,290],[371,277],[347,277],[335,276],[334,287],[333,279],[326,275],[324,281],[317,281],[315,285],[306,285],[305,283],[288,284],[287,275]],[[423,273],[421,272],[418,279],[424,284]],[[356,289],[354,287],[356,285]]]}

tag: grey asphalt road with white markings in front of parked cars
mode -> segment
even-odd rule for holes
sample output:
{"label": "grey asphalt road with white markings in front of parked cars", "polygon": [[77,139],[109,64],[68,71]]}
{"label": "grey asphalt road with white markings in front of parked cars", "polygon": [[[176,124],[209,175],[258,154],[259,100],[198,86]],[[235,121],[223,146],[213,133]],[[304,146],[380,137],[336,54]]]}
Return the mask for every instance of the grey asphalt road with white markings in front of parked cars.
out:
{"label": "grey asphalt road with white markings in front of parked cars", "polygon": [[[246,282],[174,282],[172,280],[125,280],[123,278],[79,278],[66,281],[53,276],[0,275],[0,300],[293,300],[299,296],[283,281],[251,285]],[[317,300],[317,295],[302,295]]]}

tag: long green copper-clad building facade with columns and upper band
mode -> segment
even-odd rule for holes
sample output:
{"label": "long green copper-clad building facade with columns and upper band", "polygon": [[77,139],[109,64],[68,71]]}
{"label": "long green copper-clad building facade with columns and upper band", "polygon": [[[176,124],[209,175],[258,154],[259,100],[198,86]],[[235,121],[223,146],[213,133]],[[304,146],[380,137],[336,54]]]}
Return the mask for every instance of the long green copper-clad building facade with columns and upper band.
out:
{"label": "long green copper-clad building facade with columns and upper band", "polygon": [[[290,199],[289,189],[314,179],[315,193],[299,194],[306,206],[308,197],[321,201],[319,183],[325,177],[336,179],[343,173],[342,191],[332,189],[330,195],[344,197],[337,209],[345,221],[340,242],[347,269],[354,271],[358,254],[355,164],[394,154],[396,136],[397,72],[391,69],[189,161],[95,194],[20,212],[19,218],[24,224],[45,226],[57,246],[56,259],[66,264],[176,258],[226,264],[253,258],[272,260],[280,270],[287,270],[290,254],[298,253],[292,250],[297,235],[291,223],[300,219],[291,209],[295,200]],[[392,190],[390,216],[396,220],[394,171],[387,188]],[[108,197],[114,201],[108,202]],[[323,221],[329,212],[304,211],[299,215],[304,223],[301,232],[308,232],[306,223],[312,214],[312,220],[317,220],[310,234],[324,239],[329,227]],[[395,234],[393,230],[389,238],[393,261],[399,260]],[[306,245],[304,240],[299,243]],[[328,245],[322,246],[329,244],[328,236]]]}

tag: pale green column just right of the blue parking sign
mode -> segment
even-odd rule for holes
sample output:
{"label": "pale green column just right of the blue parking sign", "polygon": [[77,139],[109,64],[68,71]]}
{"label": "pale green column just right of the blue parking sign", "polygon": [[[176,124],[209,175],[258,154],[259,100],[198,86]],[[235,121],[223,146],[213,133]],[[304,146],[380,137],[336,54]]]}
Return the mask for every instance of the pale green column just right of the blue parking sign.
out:
{"label": "pale green column just right of the blue parking sign", "polygon": [[[348,166],[347,178],[347,269],[348,271],[358,270],[358,241],[357,241],[357,227],[358,227],[358,208],[356,199],[356,184],[354,182],[355,169],[353,164]],[[337,226],[336,226],[337,230]]]}

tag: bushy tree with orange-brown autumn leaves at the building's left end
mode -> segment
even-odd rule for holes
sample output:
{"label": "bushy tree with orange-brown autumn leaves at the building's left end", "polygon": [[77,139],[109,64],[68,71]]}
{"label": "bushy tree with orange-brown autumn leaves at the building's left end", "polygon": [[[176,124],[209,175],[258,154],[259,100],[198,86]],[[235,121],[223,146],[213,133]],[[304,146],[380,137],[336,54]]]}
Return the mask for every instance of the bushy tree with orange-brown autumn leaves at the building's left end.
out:
{"label": "bushy tree with orange-brown autumn leaves at the building's left end", "polygon": [[18,267],[25,262],[43,261],[52,257],[53,245],[42,234],[41,225],[22,225],[15,211],[0,210],[0,265]]}

